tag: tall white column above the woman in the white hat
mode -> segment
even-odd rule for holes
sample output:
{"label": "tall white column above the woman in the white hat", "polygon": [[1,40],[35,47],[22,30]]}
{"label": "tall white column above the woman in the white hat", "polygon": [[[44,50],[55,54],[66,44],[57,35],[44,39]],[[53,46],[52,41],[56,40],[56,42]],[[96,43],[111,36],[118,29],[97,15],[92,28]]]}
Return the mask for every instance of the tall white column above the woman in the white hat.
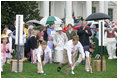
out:
{"label": "tall white column above the woman in the white hat", "polygon": [[66,1],[66,24],[71,23],[74,25],[74,20],[72,18],[72,1]]}

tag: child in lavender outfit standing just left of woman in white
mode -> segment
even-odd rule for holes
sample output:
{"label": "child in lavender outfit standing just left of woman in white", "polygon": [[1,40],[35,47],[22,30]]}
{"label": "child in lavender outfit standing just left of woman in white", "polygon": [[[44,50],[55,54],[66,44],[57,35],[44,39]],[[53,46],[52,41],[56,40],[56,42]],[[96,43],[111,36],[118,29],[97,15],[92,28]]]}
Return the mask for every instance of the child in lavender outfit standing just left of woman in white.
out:
{"label": "child in lavender outfit standing just left of woman in white", "polygon": [[46,63],[48,62],[48,59],[50,59],[50,63],[52,63],[52,52],[53,52],[53,41],[51,39],[51,36],[48,36],[48,41],[47,41],[47,45],[49,46],[49,48],[51,49],[51,57],[49,57],[49,52],[46,55]]}

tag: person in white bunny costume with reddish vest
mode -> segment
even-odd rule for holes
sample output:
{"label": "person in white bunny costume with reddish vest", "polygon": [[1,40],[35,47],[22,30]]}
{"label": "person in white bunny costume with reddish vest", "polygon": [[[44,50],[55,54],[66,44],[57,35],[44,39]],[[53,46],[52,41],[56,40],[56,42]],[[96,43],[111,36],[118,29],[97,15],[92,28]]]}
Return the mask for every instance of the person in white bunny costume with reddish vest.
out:
{"label": "person in white bunny costume with reddish vest", "polygon": [[108,51],[108,59],[117,59],[116,57],[116,40],[117,32],[114,28],[114,25],[108,24],[105,31],[105,39],[106,39],[106,48]]}

